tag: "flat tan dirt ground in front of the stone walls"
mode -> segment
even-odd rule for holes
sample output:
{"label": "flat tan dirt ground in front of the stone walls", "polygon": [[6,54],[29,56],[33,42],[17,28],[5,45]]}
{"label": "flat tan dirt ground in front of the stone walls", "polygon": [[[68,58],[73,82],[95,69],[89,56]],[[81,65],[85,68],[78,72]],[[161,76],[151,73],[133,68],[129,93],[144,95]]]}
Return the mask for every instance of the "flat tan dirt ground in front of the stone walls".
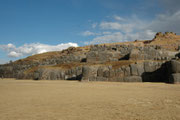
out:
{"label": "flat tan dirt ground in front of the stone walls", "polygon": [[3,79],[0,120],[180,120],[180,84]]}

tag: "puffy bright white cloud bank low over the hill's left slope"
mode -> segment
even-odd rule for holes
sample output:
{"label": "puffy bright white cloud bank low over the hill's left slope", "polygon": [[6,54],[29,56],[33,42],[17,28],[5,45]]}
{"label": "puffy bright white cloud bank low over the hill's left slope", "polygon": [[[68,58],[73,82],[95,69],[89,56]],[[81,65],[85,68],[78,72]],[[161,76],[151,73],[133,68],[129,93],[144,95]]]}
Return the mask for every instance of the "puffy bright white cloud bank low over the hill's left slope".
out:
{"label": "puffy bright white cloud bank low over the hill's left slope", "polygon": [[27,55],[39,54],[49,51],[61,51],[68,47],[78,47],[77,43],[65,43],[58,45],[47,45],[40,43],[24,44],[23,46],[16,47],[13,44],[0,45],[0,49],[3,49],[8,53],[9,57],[22,57]]}

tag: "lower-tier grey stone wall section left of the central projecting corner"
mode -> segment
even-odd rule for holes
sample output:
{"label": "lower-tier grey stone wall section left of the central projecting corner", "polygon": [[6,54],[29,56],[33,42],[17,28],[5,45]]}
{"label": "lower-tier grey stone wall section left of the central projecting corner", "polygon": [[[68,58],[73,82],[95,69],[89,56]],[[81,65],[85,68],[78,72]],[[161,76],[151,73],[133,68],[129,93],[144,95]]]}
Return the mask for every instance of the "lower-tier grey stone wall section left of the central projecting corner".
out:
{"label": "lower-tier grey stone wall section left of the central projecting corner", "polygon": [[81,80],[81,75],[81,66],[71,69],[39,67],[30,73],[19,72],[17,78],[34,80]]}

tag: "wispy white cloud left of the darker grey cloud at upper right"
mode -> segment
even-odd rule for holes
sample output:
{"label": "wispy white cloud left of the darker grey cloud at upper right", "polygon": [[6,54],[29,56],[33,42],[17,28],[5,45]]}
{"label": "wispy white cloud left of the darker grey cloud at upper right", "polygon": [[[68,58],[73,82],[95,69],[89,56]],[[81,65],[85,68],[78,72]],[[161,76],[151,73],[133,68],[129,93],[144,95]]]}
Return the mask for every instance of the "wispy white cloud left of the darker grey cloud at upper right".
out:
{"label": "wispy white cloud left of the darker grey cloud at upper right", "polygon": [[[151,40],[156,32],[149,28],[150,22],[140,20],[133,15],[124,21],[106,22],[99,24],[101,34],[94,36],[92,41],[85,44],[101,44],[112,42],[125,42],[132,40]],[[107,31],[108,30],[108,31]]]}

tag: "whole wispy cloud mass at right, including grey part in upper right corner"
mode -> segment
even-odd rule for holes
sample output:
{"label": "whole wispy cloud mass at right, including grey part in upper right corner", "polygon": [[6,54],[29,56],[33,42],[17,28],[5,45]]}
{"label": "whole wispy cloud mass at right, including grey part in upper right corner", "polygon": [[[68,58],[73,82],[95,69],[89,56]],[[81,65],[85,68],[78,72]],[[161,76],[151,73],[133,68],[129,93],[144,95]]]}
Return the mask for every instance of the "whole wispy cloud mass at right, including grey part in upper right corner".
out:
{"label": "whole wispy cloud mass at right, including grey part in upper right corner", "polygon": [[[179,0],[158,0],[167,10],[157,14],[152,20],[139,19],[136,15],[126,18],[114,15],[113,20],[97,24],[92,41],[85,44],[124,42],[132,40],[151,40],[156,32],[175,32],[180,34]],[[178,4],[178,5],[177,5]],[[173,7],[175,6],[175,7]]]}

